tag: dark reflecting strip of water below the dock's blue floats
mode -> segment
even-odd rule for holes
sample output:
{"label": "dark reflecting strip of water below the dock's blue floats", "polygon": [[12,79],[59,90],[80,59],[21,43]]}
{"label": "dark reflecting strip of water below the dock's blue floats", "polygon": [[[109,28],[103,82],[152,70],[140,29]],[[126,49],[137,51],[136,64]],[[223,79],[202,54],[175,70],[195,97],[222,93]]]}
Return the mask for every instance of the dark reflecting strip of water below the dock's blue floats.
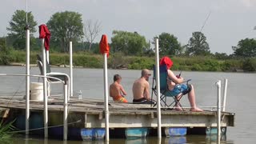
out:
{"label": "dark reflecting strip of water below the dock's blue floats", "polygon": [[157,137],[150,138],[136,138],[136,139],[118,139],[111,138],[110,142],[104,140],[94,140],[94,141],[62,141],[56,139],[47,138],[14,138],[14,143],[26,143],[26,144],[151,144],[151,143],[165,143],[165,144],[183,144],[183,143],[228,143],[234,144],[234,141],[227,141],[226,135],[222,135],[220,141],[218,142],[217,135],[186,135],[186,136],[174,136],[174,137],[162,137],[158,139]]}

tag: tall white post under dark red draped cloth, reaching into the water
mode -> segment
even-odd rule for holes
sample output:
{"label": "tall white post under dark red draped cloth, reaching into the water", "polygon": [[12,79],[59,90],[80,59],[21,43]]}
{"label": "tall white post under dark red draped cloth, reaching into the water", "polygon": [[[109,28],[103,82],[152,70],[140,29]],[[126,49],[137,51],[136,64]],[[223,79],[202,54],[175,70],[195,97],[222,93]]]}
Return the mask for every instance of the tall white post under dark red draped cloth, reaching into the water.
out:
{"label": "tall white post under dark red draped cloth, reaching into the water", "polygon": [[44,132],[45,138],[48,138],[48,98],[47,98],[47,86],[46,86],[46,50],[44,46],[45,39],[42,38],[42,75],[43,79],[43,106],[44,106]]}

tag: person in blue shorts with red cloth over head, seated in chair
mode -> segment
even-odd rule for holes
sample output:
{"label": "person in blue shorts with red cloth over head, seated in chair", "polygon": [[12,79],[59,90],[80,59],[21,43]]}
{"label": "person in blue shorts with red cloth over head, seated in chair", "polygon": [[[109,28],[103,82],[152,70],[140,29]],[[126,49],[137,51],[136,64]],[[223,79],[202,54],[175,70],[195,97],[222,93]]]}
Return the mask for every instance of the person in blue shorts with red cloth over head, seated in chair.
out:
{"label": "person in blue shorts with red cloth over head, seated in chair", "polygon": [[[169,80],[167,81],[168,88],[170,90],[171,95],[177,95],[178,100],[181,95],[188,94],[188,99],[190,101],[190,111],[203,111],[199,109],[195,104],[195,94],[194,94],[194,87],[192,85],[186,85],[182,84],[184,82],[184,78],[182,78],[180,75],[175,75],[172,70],[170,70],[170,67],[173,66],[173,62],[169,57],[163,57],[160,60],[160,66],[166,65],[167,67],[167,74]],[[176,103],[175,104],[176,110],[182,110],[182,108]]]}

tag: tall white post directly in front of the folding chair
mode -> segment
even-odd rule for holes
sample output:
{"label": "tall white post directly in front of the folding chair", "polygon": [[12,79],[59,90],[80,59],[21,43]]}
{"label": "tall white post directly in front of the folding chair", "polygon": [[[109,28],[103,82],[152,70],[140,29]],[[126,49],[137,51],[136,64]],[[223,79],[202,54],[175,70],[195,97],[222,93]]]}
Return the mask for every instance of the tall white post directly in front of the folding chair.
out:
{"label": "tall white post directly in front of the folding chair", "polygon": [[158,98],[158,138],[162,138],[161,131],[161,104],[160,104],[160,81],[159,81],[159,54],[158,54],[158,38],[154,39],[155,43],[155,70],[156,70],[156,86],[157,86],[157,98]]}

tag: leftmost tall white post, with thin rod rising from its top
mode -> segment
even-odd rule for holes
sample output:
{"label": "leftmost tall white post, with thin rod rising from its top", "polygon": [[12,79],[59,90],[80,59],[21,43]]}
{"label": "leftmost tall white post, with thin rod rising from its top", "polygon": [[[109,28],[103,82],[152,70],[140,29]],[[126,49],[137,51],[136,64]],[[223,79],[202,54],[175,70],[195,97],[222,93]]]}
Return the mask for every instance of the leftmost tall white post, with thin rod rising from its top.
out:
{"label": "leftmost tall white post, with thin rod rising from its top", "polygon": [[30,30],[26,27],[26,135],[30,130]]}

